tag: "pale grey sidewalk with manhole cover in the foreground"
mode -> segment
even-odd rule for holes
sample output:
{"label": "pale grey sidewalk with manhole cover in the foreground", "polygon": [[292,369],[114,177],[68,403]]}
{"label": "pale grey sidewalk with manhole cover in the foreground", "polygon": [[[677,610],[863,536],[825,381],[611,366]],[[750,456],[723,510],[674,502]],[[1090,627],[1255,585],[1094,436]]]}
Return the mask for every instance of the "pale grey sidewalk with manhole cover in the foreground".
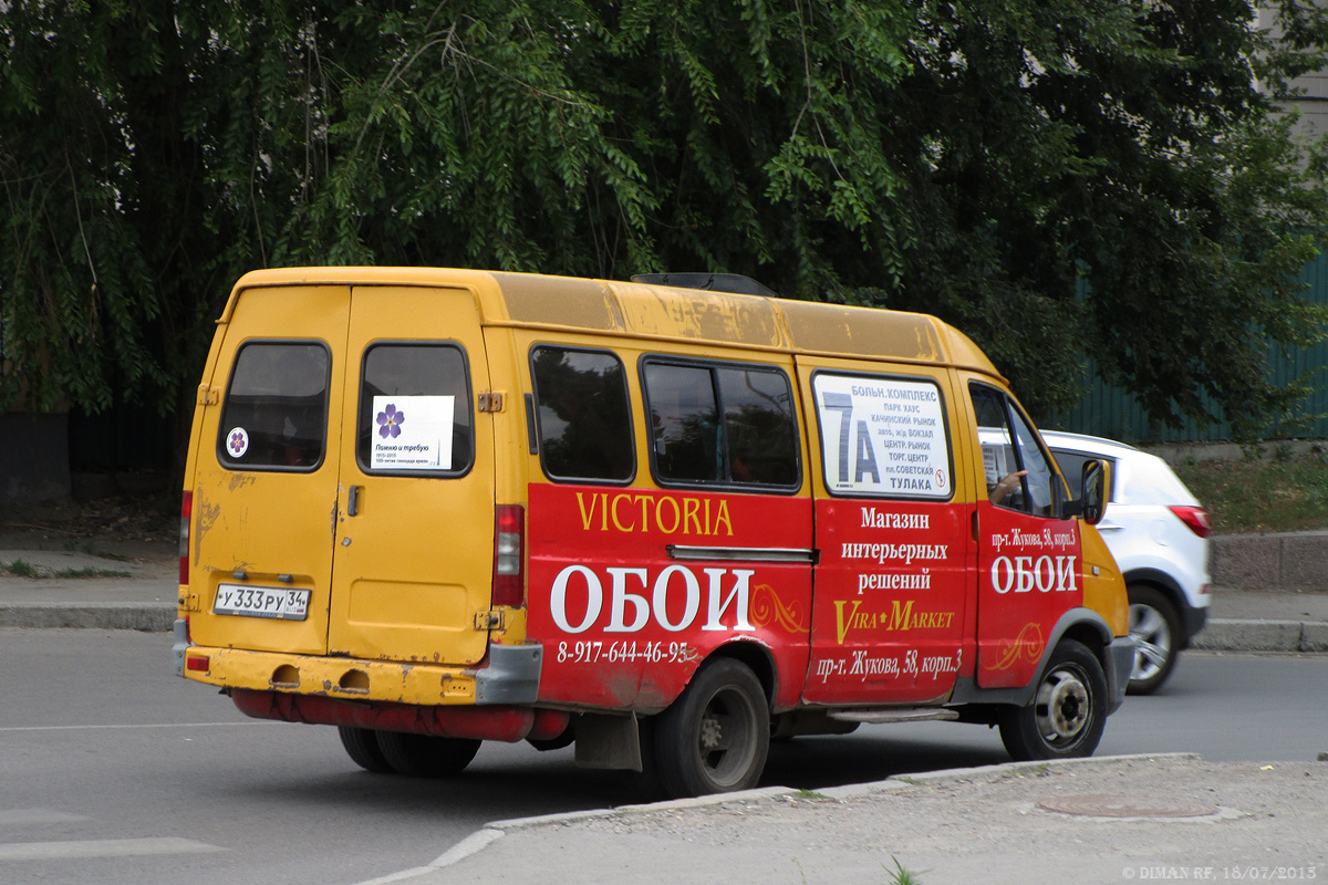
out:
{"label": "pale grey sidewalk with manhole cover in the foreground", "polygon": [[372,885],[1305,881],[1328,876],[1325,795],[1323,762],[1011,763],[497,821]]}

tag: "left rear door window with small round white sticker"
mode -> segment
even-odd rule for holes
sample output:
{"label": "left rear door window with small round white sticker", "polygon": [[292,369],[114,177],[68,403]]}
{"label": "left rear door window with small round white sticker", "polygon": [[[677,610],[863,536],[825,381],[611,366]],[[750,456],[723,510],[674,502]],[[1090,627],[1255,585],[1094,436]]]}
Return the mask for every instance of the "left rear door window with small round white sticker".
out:
{"label": "left rear door window with small round white sticker", "polygon": [[320,342],[242,345],[222,406],[220,463],[231,470],[317,470],[327,439],[329,366]]}

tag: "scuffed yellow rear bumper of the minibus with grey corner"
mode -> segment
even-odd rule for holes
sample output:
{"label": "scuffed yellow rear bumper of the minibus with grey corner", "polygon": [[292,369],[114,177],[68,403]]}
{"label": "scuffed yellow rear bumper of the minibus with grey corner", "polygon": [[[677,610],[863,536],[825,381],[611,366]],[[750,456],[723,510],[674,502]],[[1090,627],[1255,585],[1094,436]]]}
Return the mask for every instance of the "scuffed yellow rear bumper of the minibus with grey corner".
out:
{"label": "scuffed yellow rear bumper of the minibus with grey corner", "polygon": [[531,705],[539,698],[543,647],[490,645],[471,667],[364,661],[193,645],[175,621],[175,674],[222,689],[413,706]]}

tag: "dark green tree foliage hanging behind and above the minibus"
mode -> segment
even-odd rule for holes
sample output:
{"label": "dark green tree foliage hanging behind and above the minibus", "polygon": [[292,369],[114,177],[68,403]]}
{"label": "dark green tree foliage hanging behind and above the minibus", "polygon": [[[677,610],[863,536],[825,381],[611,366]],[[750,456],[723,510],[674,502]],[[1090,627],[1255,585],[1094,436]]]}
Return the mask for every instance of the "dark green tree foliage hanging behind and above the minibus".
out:
{"label": "dark green tree foliage hanging behind and above the minibus", "polygon": [[1093,357],[1252,435],[1325,320],[1271,102],[1328,15],[1274,5],[12,0],[0,401],[187,403],[254,267],[729,271],[936,313],[1035,414]]}

